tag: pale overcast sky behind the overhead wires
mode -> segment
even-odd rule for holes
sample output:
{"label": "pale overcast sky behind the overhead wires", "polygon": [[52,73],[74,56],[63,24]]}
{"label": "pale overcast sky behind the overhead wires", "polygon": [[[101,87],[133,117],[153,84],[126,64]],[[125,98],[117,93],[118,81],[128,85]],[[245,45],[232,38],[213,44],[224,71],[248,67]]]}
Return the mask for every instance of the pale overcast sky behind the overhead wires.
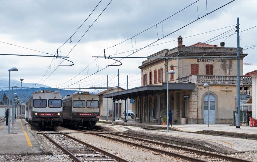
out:
{"label": "pale overcast sky behind the overhead wires", "polygon": [[[102,10],[110,1],[102,1],[89,19],[76,32],[77,28],[86,20],[99,1],[5,1],[0,0],[0,41],[8,42],[14,45],[23,46],[42,52],[55,54],[59,48],[71,35],[72,42],[68,40],[59,49],[59,55],[66,56],[71,48],[78,42],[82,35],[88,30],[89,25],[95,21]],[[145,59],[124,59],[121,66],[107,65],[114,63],[113,60],[98,58],[89,68],[86,68],[104,49],[106,55],[113,55],[144,47],[163,35],[167,35],[178,28],[210,13],[214,9],[223,6],[226,0],[215,1],[200,0],[187,9],[174,15],[173,17],[163,21],[156,27],[137,35],[136,43],[134,35],[141,31],[161,22],[167,17],[173,15],[184,7],[192,4],[195,1],[112,1],[110,5],[103,11],[100,17],[89,28],[88,32],[80,40],[80,42],[69,53],[69,60],[73,61],[73,66],[60,66],[60,59],[54,59],[51,66],[52,58],[50,57],[23,57],[23,56],[0,56],[0,82],[1,78],[8,78],[8,69],[17,67],[18,72],[11,72],[11,78],[19,80],[24,79],[24,82],[43,83],[50,87],[67,87],[79,80],[81,87],[106,87],[106,75],[109,74],[110,87],[117,85],[117,71],[120,69],[121,87],[126,88],[126,77],[129,78],[129,88],[141,85],[141,75],[138,66]],[[176,40],[179,35],[187,37],[199,33],[216,30],[219,28],[235,25],[237,17],[240,18],[240,31],[254,27],[257,25],[257,1],[234,1],[229,5],[207,15],[206,17],[197,20],[187,27],[169,35],[168,37],[156,42],[155,44]],[[156,29],[157,28],[157,29]],[[183,44],[186,46],[196,42],[205,42],[233,27],[221,29],[218,31],[209,32],[203,35],[193,36],[183,39]],[[157,31],[158,37],[157,37]],[[232,32],[228,34],[232,34]],[[117,43],[131,38],[117,46]],[[225,38],[224,38],[225,39]],[[219,44],[224,39],[219,39],[210,44]],[[251,46],[257,44],[257,28],[252,28],[240,33],[240,46]],[[112,47],[114,46],[114,47]],[[149,56],[162,49],[172,49],[177,46],[177,41],[164,43],[162,45],[152,46],[143,49],[132,56]],[[225,40],[225,47],[236,47],[236,35],[230,36]],[[244,47],[248,48],[248,47]],[[32,55],[47,55],[32,50],[23,49],[17,46],[0,43],[0,53],[8,54],[32,54]],[[118,56],[127,56],[133,53],[127,52],[118,54]],[[257,63],[257,49],[244,50],[248,56],[244,58],[244,63]],[[101,54],[103,56],[103,53]],[[68,61],[63,61],[61,65],[70,65]],[[118,64],[118,63],[116,63]],[[44,76],[47,68],[50,69]],[[57,69],[56,69],[57,68]],[[98,70],[104,70],[97,72]],[[246,72],[256,70],[257,66],[244,65],[243,71]],[[54,69],[56,69],[54,71]],[[54,71],[54,72],[53,72]],[[53,72],[49,77],[48,75]],[[97,73],[95,73],[97,72]],[[95,73],[94,75],[91,75]],[[76,76],[79,74],[78,76]],[[88,76],[91,75],[91,76]],[[133,76],[135,75],[135,76]],[[76,77],[75,77],[76,76]],[[133,76],[133,77],[132,77]],[[43,77],[43,79],[42,79]],[[48,77],[48,78],[47,78]],[[74,79],[72,79],[75,77]],[[87,78],[86,78],[87,77]],[[115,78],[114,78],[115,77]],[[47,79],[46,79],[47,78]],[[42,79],[42,80],[41,80]],[[71,80],[72,79],[72,80]],[[41,81],[40,81],[41,80]],[[79,84],[70,87],[79,87]]]}

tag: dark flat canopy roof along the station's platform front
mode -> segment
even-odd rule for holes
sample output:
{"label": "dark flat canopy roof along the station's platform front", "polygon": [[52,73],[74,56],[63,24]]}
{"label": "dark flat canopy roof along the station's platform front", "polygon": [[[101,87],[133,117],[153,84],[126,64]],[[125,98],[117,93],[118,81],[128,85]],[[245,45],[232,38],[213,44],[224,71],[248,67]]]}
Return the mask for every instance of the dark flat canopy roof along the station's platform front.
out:
{"label": "dark flat canopy roof along the station's platform front", "polygon": [[[194,90],[195,83],[169,83],[169,91],[173,90]],[[128,90],[115,91],[113,96],[114,100],[124,100],[131,98],[138,98],[143,96],[160,94],[163,91],[167,91],[167,83],[162,85],[147,85],[142,87],[135,87]],[[103,98],[112,98],[112,90],[108,94],[104,94]]]}

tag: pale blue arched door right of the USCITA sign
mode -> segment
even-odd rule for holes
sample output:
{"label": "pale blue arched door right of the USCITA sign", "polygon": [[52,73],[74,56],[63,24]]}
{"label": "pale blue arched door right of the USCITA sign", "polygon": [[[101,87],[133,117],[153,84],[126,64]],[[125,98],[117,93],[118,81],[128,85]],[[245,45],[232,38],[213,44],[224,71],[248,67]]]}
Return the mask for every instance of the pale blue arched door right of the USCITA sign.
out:
{"label": "pale blue arched door right of the USCITA sign", "polygon": [[[215,124],[215,102],[216,98],[213,94],[209,94],[209,104],[210,104],[210,124]],[[203,121],[208,124],[208,94],[203,98]]]}

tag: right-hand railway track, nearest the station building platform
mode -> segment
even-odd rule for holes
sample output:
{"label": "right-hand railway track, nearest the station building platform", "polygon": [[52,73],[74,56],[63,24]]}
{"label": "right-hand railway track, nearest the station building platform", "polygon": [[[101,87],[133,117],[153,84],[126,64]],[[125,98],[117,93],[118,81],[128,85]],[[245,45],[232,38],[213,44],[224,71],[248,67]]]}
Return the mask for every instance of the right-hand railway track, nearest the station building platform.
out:
{"label": "right-hand railway track, nearest the station building platform", "polygon": [[[83,130],[81,130],[83,131]],[[122,134],[116,133],[105,133],[105,134],[98,134],[92,133],[100,137],[108,138],[111,140],[115,140],[118,142],[127,143],[130,145],[135,145],[141,148],[153,150],[159,153],[164,153],[169,156],[179,157],[189,161],[235,161],[235,162],[250,162],[248,160],[238,159],[230,156],[219,155],[215,153],[208,153],[204,151],[199,151],[195,149],[188,149],[180,146],[165,144],[161,142],[150,141],[141,138],[135,138],[132,136],[126,136]]]}

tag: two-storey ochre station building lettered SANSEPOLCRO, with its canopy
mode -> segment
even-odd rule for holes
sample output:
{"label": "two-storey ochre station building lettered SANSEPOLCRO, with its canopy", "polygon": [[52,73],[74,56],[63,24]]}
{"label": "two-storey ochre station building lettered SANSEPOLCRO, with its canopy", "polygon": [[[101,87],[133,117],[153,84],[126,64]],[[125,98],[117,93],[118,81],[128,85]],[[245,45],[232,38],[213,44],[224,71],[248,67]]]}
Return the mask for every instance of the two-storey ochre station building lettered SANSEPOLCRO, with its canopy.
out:
{"label": "two-storey ochre station building lettered SANSEPOLCRO, with its canopy", "polygon": [[[183,45],[164,49],[148,56],[139,66],[142,86],[114,93],[114,99],[135,99],[135,120],[158,122],[167,113],[167,81],[169,82],[169,110],[177,124],[203,124],[208,121],[208,95],[204,83],[209,85],[210,124],[233,123],[236,110],[236,49],[206,43]],[[248,54],[240,48],[240,105],[248,100],[246,90],[252,90],[252,78],[243,76],[243,59]],[[151,58],[152,57],[152,58]],[[167,57],[169,57],[167,59]],[[166,73],[174,70],[175,74]],[[111,98],[110,94],[103,95]],[[251,106],[241,107],[251,111]],[[182,120],[182,122],[181,122]]]}

